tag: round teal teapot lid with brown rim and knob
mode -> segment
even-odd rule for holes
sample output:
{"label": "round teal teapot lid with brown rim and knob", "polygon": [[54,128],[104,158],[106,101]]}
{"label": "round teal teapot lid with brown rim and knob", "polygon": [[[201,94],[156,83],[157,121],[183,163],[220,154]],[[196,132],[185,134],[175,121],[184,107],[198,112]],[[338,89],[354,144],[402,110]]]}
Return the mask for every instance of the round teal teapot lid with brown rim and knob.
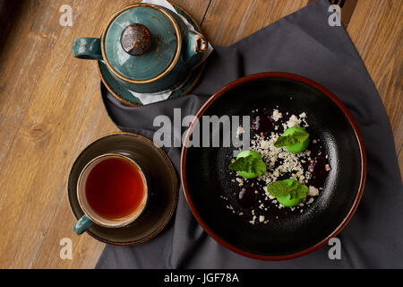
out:
{"label": "round teal teapot lid with brown rim and knob", "polygon": [[151,83],[176,64],[181,34],[174,17],[155,4],[131,4],[118,11],[102,34],[109,70],[129,83]]}

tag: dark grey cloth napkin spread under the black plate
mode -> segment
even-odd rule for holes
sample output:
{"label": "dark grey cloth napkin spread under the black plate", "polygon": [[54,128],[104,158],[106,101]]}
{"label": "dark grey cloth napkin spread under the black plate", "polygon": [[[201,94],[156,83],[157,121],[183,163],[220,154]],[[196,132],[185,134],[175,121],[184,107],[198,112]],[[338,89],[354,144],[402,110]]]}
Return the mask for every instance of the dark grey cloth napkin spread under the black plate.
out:
{"label": "dark grey cloth napkin spread under the black plate", "polygon": [[[403,190],[389,120],[346,30],[328,24],[328,8],[329,1],[316,1],[229,48],[216,47],[192,95],[133,108],[102,89],[107,112],[116,125],[151,139],[158,129],[152,125],[154,117],[173,117],[174,108],[181,108],[183,117],[195,114],[220,87],[247,74],[301,74],[333,91],[355,117],[368,158],[364,196],[338,236],[341,260],[329,259],[329,246],[280,262],[239,256],[201,229],[181,187],[176,214],[165,230],[138,246],[107,246],[97,268],[403,267]],[[166,152],[179,170],[180,149]]]}

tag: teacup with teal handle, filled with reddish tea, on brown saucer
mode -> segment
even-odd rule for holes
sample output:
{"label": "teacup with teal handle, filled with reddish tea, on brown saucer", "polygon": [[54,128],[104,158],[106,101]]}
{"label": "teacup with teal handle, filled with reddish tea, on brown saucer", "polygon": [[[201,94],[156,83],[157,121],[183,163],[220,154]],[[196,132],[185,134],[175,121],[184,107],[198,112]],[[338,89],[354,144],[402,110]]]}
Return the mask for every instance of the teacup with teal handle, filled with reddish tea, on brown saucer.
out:
{"label": "teacup with teal handle, filled with reddish tea, on brown saucer", "polygon": [[120,153],[106,153],[81,170],[77,198],[84,215],[73,226],[77,234],[92,224],[123,227],[135,221],[148,199],[146,175],[139,164]]}

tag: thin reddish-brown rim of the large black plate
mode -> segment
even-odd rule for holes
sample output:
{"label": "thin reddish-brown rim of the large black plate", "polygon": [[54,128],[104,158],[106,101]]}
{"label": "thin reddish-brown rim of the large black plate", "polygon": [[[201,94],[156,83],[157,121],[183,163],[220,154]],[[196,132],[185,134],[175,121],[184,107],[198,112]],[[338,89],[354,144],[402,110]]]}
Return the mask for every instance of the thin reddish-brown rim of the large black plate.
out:
{"label": "thin reddish-brown rim of the large black plate", "polygon": [[[225,94],[227,91],[235,88],[237,85],[250,82],[256,79],[262,79],[262,78],[285,78],[285,79],[291,79],[295,80],[301,83],[305,83],[310,85],[311,87],[315,88],[316,90],[322,91],[326,96],[330,98],[330,100],[333,100],[334,103],[343,111],[345,116],[347,117],[350,125],[353,127],[354,132],[356,134],[356,139],[360,148],[360,153],[361,153],[361,179],[360,179],[360,186],[358,187],[358,192],[356,194],[356,199],[354,201],[353,206],[351,207],[350,211],[347,213],[347,216],[344,218],[344,220],[339,224],[339,226],[336,228],[336,230],[333,230],[333,232],[330,233],[329,236],[327,236],[325,239],[322,239],[319,243],[313,245],[310,248],[306,248],[302,251],[298,251],[296,253],[292,254],[287,254],[283,256],[266,256],[266,255],[261,255],[261,254],[255,254],[251,252],[244,251],[240,248],[236,248],[235,246],[229,244],[226,240],[220,238],[213,230],[210,229],[210,227],[201,219],[200,214],[197,212],[191,196],[189,194],[189,189],[187,187],[187,182],[186,182],[186,177],[184,174],[185,170],[185,158],[186,158],[186,145],[189,142],[189,137],[193,133],[193,128],[195,125],[195,122],[201,118],[201,116],[204,114],[204,111],[210,107],[211,103],[213,103],[215,100],[219,99],[220,96]],[[356,212],[356,208],[360,202],[361,196],[363,195],[363,190],[364,190],[364,182],[365,182],[365,177],[366,177],[366,156],[365,156],[365,150],[364,150],[364,142],[362,139],[362,136],[358,130],[358,126],[356,125],[356,121],[354,120],[353,116],[351,116],[350,112],[347,110],[346,106],[339,100],[331,91],[327,90],[324,88],[321,84],[313,82],[312,80],[305,78],[303,76],[297,75],[297,74],[289,74],[289,73],[280,73],[280,72],[266,72],[266,73],[259,73],[259,74],[251,74],[248,76],[245,76],[243,78],[237,79],[234,82],[228,83],[226,86],[221,88],[219,91],[214,93],[209,100],[207,100],[204,105],[199,109],[197,112],[195,118],[193,119],[193,122],[189,126],[189,129],[185,135],[184,138],[184,143],[182,147],[182,152],[181,152],[181,168],[180,168],[180,173],[181,173],[181,181],[182,181],[182,186],[184,187],[184,197],[186,199],[186,202],[193,213],[193,216],[196,218],[197,222],[201,225],[201,227],[216,241],[219,242],[219,244],[223,245],[224,247],[244,256],[244,257],[251,257],[254,259],[260,259],[260,260],[287,260],[287,259],[292,259],[296,257],[301,257],[304,256],[308,253],[313,252],[314,250],[321,248],[324,246],[329,239],[335,237],[339,232],[347,225],[347,222],[350,221],[351,217],[353,214]]]}

